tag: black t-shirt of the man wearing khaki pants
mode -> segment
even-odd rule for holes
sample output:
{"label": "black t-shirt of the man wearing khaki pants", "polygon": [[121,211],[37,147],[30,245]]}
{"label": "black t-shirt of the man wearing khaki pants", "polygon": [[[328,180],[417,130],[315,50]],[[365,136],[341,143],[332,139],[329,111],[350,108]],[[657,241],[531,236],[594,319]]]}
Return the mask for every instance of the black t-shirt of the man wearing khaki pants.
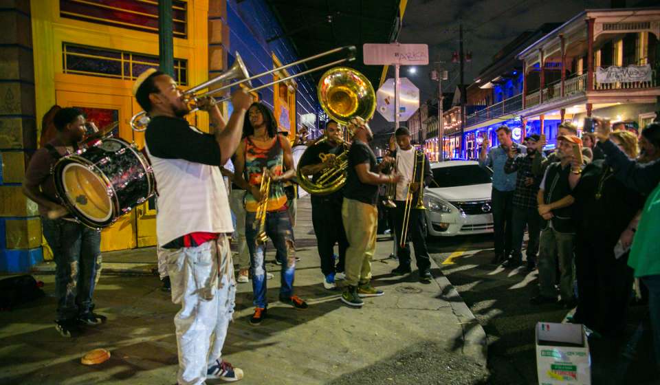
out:
{"label": "black t-shirt of the man wearing khaki pants", "polygon": [[378,186],[362,183],[355,172],[355,166],[363,163],[369,163],[369,169],[373,172],[376,168],[376,156],[364,142],[353,140],[349,150],[349,171],[344,197],[375,205],[378,201]]}

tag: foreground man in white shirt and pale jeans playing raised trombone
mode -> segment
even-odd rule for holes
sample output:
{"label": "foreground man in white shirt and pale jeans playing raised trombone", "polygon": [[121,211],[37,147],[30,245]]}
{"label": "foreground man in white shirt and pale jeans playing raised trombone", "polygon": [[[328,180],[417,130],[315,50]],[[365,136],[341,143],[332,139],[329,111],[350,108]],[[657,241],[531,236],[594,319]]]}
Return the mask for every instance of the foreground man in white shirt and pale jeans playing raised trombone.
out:
{"label": "foreground man in white shirt and pale jeans playing raised trombone", "polygon": [[227,233],[233,232],[220,166],[241,140],[250,96],[232,96],[234,113],[225,124],[212,98],[197,104],[207,111],[213,133],[189,126],[190,112],[169,75],[148,69],[133,94],[151,120],[144,139],[158,185],[156,230],[171,281],[179,348],[180,385],[207,378],[241,380],[243,371],[221,358],[234,312],[236,283]]}

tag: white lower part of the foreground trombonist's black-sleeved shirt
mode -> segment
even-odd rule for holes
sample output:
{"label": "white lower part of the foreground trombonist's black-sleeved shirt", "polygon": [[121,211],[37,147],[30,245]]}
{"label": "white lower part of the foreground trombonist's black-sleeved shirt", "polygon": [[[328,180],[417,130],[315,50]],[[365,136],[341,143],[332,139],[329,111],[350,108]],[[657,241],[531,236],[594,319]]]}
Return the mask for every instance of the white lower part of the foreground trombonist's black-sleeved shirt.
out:
{"label": "white lower part of the foreground trombonist's black-sleeved shirt", "polygon": [[232,214],[220,168],[146,151],[158,190],[156,234],[166,245],[191,232],[233,232]]}

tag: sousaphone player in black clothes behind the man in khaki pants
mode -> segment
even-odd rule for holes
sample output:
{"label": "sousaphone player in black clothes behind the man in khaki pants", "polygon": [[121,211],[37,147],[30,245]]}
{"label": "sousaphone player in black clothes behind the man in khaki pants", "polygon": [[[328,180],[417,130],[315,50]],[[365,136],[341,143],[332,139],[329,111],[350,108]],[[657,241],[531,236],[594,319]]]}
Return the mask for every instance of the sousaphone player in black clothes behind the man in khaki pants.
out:
{"label": "sousaphone player in black clothes behind the man in khaki pants", "polygon": [[[327,159],[328,154],[337,155],[342,144],[342,129],[334,120],[325,124],[325,140],[320,140],[310,146],[300,158],[298,167],[304,175],[314,175],[317,182],[323,171],[332,167]],[[325,159],[325,160],[324,160]],[[321,259],[321,272],[325,277],[323,287],[328,290],[336,289],[336,278],[343,278],[344,259],[349,241],[346,239],[344,225],[342,225],[342,202],[344,201],[342,189],[328,195],[311,195],[311,222],[316,234],[318,256]],[[334,247],[339,245],[339,261],[335,261]],[[342,276],[339,276],[342,274]]]}

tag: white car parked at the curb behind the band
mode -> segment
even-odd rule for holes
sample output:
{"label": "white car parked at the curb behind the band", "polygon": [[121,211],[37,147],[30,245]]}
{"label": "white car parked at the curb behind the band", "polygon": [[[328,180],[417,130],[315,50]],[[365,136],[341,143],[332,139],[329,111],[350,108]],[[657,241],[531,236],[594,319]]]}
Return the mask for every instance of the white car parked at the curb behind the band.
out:
{"label": "white car parked at the curb behind the band", "polygon": [[492,171],[470,160],[431,164],[432,183],[424,189],[430,236],[493,232]]}

